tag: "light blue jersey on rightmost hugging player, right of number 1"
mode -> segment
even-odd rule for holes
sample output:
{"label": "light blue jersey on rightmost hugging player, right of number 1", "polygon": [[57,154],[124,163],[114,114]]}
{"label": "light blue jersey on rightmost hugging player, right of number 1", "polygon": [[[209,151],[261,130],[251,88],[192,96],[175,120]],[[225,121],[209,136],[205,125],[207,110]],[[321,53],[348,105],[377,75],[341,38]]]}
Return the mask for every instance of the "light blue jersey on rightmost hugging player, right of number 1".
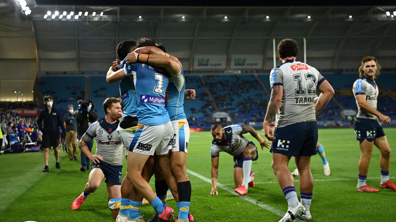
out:
{"label": "light blue jersey on rightmost hugging player, right of number 1", "polygon": [[[169,78],[169,85],[166,89],[166,102],[165,108],[169,113],[169,118],[171,121],[179,120],[179,119],[187,119],[186,114],[184,113],[184,91],[186,90],[186,81],[184,79],[183,69],[180,71],[183,76],[182,79]],[[174,80],[173,80],[174,79]],[[177,88],[173,81],[183,81],[183,87]],[[181,85],[181,84],[177,84]]]}

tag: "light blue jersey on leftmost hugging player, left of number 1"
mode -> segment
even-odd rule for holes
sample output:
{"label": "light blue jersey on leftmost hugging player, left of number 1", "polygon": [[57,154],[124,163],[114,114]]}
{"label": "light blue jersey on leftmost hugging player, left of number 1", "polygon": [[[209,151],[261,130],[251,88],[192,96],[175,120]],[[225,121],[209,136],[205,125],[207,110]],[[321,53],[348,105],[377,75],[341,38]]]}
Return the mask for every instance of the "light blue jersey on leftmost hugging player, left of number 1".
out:
{"label": "light blue jersey on leftmost hugging player, left of number 1", "polygon": [[[120,63],[119,69],[124,68],[125,60]],[[135,92],[135,85],[133,83],[134,75],[125,77],[118,81],[120,87],[120,97],[124,106],[122,117],[131,116],[136,117],[137,115],[137,96]]]}

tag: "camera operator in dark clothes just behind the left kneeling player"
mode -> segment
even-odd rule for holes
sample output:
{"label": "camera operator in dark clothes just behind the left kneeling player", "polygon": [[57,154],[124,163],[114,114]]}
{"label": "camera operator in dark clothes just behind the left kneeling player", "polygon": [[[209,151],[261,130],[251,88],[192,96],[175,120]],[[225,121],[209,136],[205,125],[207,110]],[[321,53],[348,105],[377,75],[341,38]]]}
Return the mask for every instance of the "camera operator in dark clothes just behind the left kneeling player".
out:
{"label": "camera operator in dark clothes just behind the left kneeling player", "polygon": [[[87,132],[89,125],[98,119],[98,115],[93,111],[93,102],[91,100],[85,100],[78,107],[78,114],[76,117],[78,123],[78,140]],[[87,143],[88,149],[92,152],[93,140]],[[81,171],[86,171],[89,167],[89,158],[81,152]]]}

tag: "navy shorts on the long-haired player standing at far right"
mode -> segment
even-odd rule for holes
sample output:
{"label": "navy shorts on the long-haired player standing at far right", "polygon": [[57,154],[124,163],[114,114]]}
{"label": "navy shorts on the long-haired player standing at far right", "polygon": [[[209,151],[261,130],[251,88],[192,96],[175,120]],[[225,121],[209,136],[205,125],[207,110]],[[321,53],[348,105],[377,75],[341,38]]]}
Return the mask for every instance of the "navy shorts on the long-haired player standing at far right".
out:
{"label": "navy shorts on the long-haired player standing at far right", "polygon": [[353,122],[353,129],[358,141],[374,141],[375,138],[383,137],[385,135],[384,129],[376,119],[366,119],[355,117]]}

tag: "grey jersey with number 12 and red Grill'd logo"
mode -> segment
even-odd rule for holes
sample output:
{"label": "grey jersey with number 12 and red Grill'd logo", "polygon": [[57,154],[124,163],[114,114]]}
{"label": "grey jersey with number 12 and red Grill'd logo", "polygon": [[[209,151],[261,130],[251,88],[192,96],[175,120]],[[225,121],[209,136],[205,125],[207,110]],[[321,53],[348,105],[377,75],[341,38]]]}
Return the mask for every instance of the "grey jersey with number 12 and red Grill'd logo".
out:
{"label": "grey jersey with number 12 and red Grill'd logo", "polygon": [[295,59],[286,60],[271,70],[270,84],[283,86],[283,98],[276,127],[316,120],[314,97],[316,87],[325,78],[314,67]]}

